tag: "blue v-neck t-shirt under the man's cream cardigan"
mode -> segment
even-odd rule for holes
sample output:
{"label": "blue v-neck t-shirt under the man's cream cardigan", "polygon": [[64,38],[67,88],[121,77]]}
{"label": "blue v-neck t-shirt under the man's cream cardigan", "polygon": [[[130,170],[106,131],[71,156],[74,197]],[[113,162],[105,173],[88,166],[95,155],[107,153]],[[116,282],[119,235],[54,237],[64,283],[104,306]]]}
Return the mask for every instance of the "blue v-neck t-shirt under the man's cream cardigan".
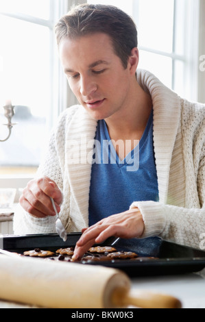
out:
{"label": "blue v-neck t-shirt under the man's cream cardigan", "polygon": [[91,171],[89,225],[128,210],[133,201],[148,200],[158,201],[153,113],[141,140],[122,161],[112,145],[106,122],[98,121]]}

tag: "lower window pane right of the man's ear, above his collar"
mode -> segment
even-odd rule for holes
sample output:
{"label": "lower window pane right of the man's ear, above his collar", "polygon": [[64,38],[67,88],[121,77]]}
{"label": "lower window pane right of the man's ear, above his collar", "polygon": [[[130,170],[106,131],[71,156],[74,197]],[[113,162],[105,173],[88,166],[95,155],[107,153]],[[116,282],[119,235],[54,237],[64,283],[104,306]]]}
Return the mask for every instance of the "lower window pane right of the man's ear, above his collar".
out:
{"label": "lower window pane right of the man's ear, above his collar", "polygon": [[[140,51],[138,68],[150,71],[171,88],[172,59],[147,51]],[[166,72],[165,72],[166,71]]]}

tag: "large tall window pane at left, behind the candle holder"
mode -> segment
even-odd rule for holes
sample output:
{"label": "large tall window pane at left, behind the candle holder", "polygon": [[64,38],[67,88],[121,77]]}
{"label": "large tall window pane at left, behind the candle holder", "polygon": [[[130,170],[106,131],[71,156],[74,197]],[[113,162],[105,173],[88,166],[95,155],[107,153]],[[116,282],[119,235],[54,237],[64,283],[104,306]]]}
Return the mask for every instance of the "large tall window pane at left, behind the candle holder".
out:
{"label": "large tall window pane at left, behind the candle holder", "polygon": [[[0,165],[38,166],[45,138],[50,97],[49,28],[1,16],[0,107],[16,106],[10,139],[0,143]],[[0,108],[2,140],[6,134]],[[2,133],[3,131],[3,133]]]}

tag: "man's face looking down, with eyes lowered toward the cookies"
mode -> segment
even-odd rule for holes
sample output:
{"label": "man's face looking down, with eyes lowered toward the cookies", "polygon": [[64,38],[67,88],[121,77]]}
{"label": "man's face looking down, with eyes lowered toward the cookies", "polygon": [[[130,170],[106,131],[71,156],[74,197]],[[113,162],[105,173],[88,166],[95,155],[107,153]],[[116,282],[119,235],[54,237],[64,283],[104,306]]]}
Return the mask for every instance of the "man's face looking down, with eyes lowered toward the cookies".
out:
{"label": "man's face looking down, with eyes lowered toward the cookies", "polygon": [[60,58],[71,90],[93,119],[122,115],[133,75],[129,68],[124,69],[108,35],[64,38]]}

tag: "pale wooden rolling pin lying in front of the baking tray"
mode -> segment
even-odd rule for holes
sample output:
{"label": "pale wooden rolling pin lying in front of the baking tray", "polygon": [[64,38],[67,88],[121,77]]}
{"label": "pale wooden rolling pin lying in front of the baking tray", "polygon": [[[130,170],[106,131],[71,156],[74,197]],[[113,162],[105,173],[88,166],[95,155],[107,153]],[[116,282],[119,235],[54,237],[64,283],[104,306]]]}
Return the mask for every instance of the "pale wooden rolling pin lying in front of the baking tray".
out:
{"label": "pale wooden rolling pin lying in front of the baking tray", "polygon": [[132,294],[130,279],[117,269],[5,255],[0,299],[44,308],[181,308],[169,295]]}

